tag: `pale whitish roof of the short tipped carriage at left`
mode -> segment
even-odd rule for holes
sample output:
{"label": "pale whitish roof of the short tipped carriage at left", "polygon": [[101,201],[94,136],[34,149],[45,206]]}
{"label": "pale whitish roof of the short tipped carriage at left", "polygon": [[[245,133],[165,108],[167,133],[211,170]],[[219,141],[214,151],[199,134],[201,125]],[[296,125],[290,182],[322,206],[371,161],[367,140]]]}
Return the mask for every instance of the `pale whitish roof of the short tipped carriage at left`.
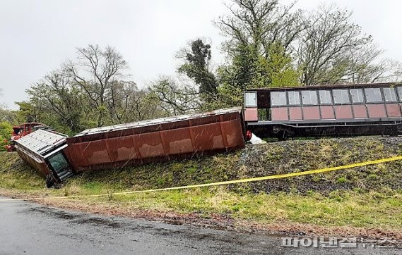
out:
{"label": "pale whitish roof of the short tipped carriage at left", "polygon": [[47,130],[37,130],[16,140],[16,146],[28,149],[34,154],[45,156],[49,151],[58,149],[66,143],[66,135]]}

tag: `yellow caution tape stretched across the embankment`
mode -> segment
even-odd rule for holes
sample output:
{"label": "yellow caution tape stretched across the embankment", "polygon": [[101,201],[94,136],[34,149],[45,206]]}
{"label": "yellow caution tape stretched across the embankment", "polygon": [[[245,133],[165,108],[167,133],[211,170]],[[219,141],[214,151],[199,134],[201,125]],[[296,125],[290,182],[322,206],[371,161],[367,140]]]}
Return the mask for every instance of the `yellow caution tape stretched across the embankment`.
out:
{"label": "yellow caution tape stretched across the embankment", "polygon": [[83,197],[109,197],[112,195],[134,194],[134,193],[144,193],[144,192],[160,192],[160,191],[173,190],[173,189],[191,189],[191,188],[196,188],[196,187],[229,185],[229,184],[243,183],[243,182],[256,182],[259,180],[272,180],[272,179],[280,179],[280,178],[289,178],[289,177],[300,176],[300,175],[311,175],[313,173],[325,173],[325,172],[330,172],[330,171],[335,171],[335,170],[357,168],[358,166],[369,166],[369,165],[375,165],[378,163],[385,163],[385,162],[398,161],[398,160],[402,160],[402,156],[394,156],[391,158],[382,158],[382,159],[377,159],[374,161],[353,163],[353,164],[349,164],[349,165],[345,165],[345,166],[334,166],[331,168],[321,168],[321,169],[317,169],[317,170],[307,170],[307,171],[296,172],[296,173],[283,173],[280,175],[268,175],[268,176],[262,176],[262,177],[256,177],[256,178],[240,179],[240,180],[227,180],[224,182],[211,182],[211,183],[203,183],[203,184],[197,184],[197,185],[166,187],[166,188],[162,188],[162,189],[144,189],[144,190],[136,190],[136,191],[130,191],[130,192],[114,192],[114,193],[108,193],[108,194],[76,195],[76,196],[65,196],[65,197],[35,197],[35,198],[25,198],[25,199],[0,199],[0,202],[1,201],[28,201],[28,200],[40,200],[40,199],[75,199],[75,198],[83,198]]}

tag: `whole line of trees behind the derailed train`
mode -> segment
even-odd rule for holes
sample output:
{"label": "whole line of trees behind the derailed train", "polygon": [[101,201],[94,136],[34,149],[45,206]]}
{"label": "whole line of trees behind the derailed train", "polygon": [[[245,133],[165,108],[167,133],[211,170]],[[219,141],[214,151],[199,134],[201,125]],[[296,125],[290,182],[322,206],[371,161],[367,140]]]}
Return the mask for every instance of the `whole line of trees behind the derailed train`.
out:
{"label": "whole line of trees behind the derailed train", "polygon": [[398,82],[402,66],[336,5],[303,11],[277,0],[232,0],[213,21],[225,36],[223,63],[212,43],[193,39],[177,51],[177,76],[137,85],[112,46],[79,47],[27,89],[19,111],[1,122],[41,122],[69,135],[86,128],[239,106],[244,89],[336,83]]}

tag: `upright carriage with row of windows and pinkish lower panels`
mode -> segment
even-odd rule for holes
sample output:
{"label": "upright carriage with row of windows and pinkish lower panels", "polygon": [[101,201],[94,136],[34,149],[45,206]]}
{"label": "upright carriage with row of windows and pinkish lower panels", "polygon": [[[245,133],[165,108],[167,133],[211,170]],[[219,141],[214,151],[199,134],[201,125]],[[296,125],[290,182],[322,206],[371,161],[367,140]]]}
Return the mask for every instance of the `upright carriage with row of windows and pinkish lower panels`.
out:
{"label": "upright carriage with row of windows and pinkish lower panels", "polygon": [[248,89],[244,121],[261,137],[398,135],[401,103],[392,83]]}

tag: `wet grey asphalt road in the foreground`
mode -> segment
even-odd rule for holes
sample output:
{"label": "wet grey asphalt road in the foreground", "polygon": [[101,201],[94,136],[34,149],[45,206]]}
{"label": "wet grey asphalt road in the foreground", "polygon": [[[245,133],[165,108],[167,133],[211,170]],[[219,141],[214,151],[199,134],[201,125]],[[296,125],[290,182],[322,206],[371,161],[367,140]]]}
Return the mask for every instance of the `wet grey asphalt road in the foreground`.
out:
{"label": "wet grey asphalt road in the foreground", "polygon": [[[2,199],[0,197],[0,199]],[[0,201],[0,254],[402,254],[393,248],[281,247],[279,236],[110,218]]]}

